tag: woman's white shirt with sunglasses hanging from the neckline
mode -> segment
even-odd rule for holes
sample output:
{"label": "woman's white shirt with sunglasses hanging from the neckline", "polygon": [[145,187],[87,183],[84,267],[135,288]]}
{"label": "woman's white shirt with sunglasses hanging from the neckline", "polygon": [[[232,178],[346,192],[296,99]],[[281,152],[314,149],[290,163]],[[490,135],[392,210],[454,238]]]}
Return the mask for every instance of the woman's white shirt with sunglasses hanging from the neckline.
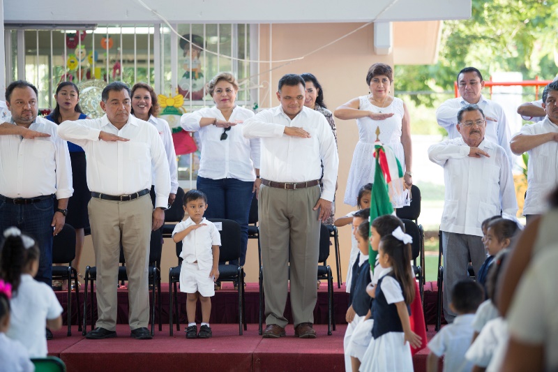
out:
{"label": "woman's white shirt with sunglasses hanging from the neckline", "polygon": [[227,139],[220,140],[225,128],[200,126],[202,117],[215,117],[225,121],[216,107],[204,107],[195,112],[183,114],[180,124],[185,131],[199,131],[202,141],[202,154],[199,158],[199,177],[209,179],[234,178],[241,181],[254,181],[255,169],[259,169],[259,138],[248,140],[242,136],[243,122],[254,116],[254,112],[236,106],[228,121],[234,123],[227,131]]}

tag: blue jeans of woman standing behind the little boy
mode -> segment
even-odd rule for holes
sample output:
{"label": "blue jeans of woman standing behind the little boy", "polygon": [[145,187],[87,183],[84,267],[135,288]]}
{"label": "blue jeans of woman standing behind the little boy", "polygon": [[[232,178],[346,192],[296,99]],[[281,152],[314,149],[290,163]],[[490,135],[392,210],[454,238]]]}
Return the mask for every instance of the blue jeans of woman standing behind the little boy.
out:
{"label": "blue jeans of woman standing behind the little boy", "polygon": [[[246,262],[248,246],[248,214],[252,204],[254,182],[234,178],[209,179],[197,177],[197,189],[207,195],[205,218],[227,218],[241,227],[240,265]],[[236,265],[236,260],[230,262]]]}

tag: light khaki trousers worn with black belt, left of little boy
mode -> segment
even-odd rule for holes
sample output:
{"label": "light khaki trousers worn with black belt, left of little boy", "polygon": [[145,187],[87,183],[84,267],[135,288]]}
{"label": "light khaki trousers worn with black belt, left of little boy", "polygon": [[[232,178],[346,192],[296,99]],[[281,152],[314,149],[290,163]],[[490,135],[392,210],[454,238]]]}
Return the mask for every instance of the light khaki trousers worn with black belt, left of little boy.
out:
{"label": "light khaki trousers worn with black belt, left of little boy", "polygon": [[116,285],[120,244],[128,274],[130,329],[149,323],[147,265],[153,205],[149,194],[128,202],[91,198],[88,204],[91,237],[97,266],[96,327],[116,329]]}

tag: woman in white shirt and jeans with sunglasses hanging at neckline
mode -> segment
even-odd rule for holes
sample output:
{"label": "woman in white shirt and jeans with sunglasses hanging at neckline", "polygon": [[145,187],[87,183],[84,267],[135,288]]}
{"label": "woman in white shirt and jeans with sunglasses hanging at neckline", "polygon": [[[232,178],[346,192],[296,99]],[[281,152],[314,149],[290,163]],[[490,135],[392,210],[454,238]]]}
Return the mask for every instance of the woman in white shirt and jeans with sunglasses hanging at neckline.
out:
{"label": "woman in white shirt and jeans with sunglasses hanging at neckline", "polygon": [[[240,265],[246,259],[248,213],[253,193],[259,191],[259,139],[242,135],[243,122],[254,116],[236,105],[239,85],[230,73],[219,73],[209,82],[215,106],[183,114],[185,131],[199,131],[202,154],[197,189],[207,195],[206,218],[227,218],[241,225]],[[236,263],[236,262],[232,262]]]}

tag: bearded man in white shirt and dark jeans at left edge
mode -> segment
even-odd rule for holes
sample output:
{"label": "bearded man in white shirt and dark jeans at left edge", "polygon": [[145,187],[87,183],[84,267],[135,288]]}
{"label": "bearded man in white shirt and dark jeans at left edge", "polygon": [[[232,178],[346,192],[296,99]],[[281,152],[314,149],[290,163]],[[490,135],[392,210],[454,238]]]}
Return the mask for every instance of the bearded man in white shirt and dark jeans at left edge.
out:
{"label": "bearded man in white shirt and dark jeans at left edge", "polygon": [[8,85],[6,105],[12,118],[0,125],[0,232],[17,226],[35,239],[35,278],[52,285],[52,237],[64,226],[73,194],[68,145],[56,135],[56,124],[37,117],[33,84]]}

